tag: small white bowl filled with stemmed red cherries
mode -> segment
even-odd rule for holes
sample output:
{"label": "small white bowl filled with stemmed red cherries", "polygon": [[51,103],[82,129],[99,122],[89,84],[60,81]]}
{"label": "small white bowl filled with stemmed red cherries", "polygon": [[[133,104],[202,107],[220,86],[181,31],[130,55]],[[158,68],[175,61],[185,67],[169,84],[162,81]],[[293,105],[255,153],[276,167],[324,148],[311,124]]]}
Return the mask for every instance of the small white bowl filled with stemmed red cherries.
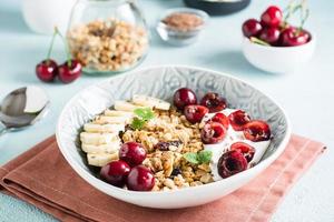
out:
{"label": "small white bowl filled with stemmed red cherries", "polygon": [[[301,12],[301,24],[294,27],[287,20]],[[315,36],[303,29],[308,17],[304,2],[291,3],[284,11],[271,6],[261,21],[248,19],[243,23],[243,52],[256,68],[267,72],[287,73],[305,64],[315,49]]]}

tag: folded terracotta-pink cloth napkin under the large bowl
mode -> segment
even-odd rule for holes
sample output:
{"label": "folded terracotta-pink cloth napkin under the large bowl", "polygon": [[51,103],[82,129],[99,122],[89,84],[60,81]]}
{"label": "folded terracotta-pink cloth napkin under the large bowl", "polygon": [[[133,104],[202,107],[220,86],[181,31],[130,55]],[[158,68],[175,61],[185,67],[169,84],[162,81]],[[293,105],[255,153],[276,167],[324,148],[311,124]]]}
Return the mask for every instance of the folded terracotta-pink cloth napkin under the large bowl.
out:
{"label": "folded terracotta-pink cloth napkin under the large bowl", "polygon": [[0,168],[0,191],[61,221],[264,222],[324,148],[293,135],[284,153],[265,172],[229,195],[196,208],[156,210],[118,201],[86,183],[65,161],[51,137]]}

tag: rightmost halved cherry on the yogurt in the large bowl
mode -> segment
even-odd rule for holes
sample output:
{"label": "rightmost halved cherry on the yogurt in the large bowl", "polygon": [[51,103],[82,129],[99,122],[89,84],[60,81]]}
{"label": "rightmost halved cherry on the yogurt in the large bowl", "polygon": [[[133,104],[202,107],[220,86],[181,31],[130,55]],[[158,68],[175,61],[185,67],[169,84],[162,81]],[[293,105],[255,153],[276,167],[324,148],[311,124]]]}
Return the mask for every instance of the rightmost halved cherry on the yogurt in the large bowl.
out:
{"label": "rightmost halved cherry on the yogurt in the large bowl", "polygon": [[244,135],[253,142],[266,141],[271,139],[271,128],[264,121],[253,120],[244,127]]}

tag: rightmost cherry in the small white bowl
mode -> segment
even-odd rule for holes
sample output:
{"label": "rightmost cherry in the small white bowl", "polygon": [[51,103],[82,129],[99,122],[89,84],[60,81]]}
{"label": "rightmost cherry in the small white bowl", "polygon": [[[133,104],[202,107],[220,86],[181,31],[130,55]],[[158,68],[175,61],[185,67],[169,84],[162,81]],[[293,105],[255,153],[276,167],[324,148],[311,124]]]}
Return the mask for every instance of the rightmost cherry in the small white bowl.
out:
{"label": "rightmost cherry in the small white bowl", "polygon": [[288,28],[282,32],[281,43],[283,47],[297,47],[310,41],[311,34],[305,30]]}

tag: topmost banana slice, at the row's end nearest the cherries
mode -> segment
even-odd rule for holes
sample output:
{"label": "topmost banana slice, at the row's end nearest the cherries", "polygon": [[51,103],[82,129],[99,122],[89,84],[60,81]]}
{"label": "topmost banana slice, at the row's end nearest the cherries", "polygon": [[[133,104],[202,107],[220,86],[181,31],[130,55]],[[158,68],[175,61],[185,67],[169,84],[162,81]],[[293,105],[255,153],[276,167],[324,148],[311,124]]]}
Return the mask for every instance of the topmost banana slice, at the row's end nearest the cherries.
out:
{"label": "topmost banana slice, at the row's end nearest the cherries", "polygon": [[138,105],[156,108],[158,110],[169,110],[170,108],[169,102],[144,94],[134,94],[132,102]]}

